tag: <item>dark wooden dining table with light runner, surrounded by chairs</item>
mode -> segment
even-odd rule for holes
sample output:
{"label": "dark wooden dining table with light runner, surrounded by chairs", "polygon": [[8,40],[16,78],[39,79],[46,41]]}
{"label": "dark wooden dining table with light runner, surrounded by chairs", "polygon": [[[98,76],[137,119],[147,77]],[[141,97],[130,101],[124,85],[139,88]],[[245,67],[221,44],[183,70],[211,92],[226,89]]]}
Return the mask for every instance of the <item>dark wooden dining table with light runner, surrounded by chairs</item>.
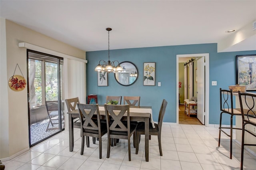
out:
{"label": "dark wooden dining table with light runner, surrounded by chairs", "polygon": [[[103,105],[99,105],[100,119],[106,120],[105,108]],[[69,151],[74,149],[74,119],[79,118],[78,109],[67,112],[68,114],[68,132],[69,132]],[[95,113],[96,114],[96,113]],[[122,117],[123,121],[127,120],[127,114]],[[152,123],[154,127],[154,121],[152,119],[152,107],[151,106],[130,106],[130,121],[145,122],[145,158],[148,162],[149,152],[149,123]],[[135,137],[135,136],[134,136]]]}

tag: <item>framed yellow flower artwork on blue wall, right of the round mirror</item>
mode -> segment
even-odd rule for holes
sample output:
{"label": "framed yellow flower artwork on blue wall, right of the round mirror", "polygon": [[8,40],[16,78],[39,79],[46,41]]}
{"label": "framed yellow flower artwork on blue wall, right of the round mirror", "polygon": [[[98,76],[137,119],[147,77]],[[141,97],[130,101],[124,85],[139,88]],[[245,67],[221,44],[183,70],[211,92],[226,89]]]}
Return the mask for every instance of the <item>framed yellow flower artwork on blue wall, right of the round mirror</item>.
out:
{"label": "framed yellow flower artwork on blue wall, right of the round mirror", "polygon": [[143,85],[155,85],[156,63],[144,63],[143,67]]}

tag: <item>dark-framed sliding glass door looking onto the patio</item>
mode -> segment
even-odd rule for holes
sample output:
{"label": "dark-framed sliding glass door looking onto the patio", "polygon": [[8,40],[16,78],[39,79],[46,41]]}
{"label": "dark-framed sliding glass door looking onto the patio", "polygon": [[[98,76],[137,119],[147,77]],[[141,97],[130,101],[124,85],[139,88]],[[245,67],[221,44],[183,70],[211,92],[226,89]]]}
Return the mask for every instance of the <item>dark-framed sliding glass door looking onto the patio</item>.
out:
{"label": "dark-framed sliding glass door looking onto the patio", "polygon": [[27,51],[30,146],[64,129],[63,58]]}

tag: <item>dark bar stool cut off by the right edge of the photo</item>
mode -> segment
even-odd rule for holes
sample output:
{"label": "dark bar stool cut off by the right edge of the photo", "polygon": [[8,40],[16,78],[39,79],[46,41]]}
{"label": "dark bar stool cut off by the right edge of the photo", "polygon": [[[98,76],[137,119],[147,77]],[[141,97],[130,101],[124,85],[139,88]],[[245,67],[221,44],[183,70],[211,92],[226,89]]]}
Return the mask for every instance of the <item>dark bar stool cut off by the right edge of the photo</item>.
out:
{"label": "dark bar stool cut off by the right edge of the photo", "polygon": [[[240,101],[240,108],[242,112],[242,146],[241,146],[241,166],[240,169],[243,170],[244,164],[244,146],[256,146],[254,144],[244,142],[245,132],[251,134],[252,136],[256,137],[255,132],[252,131],[252,127],[256,128],[256,94],[252,93],[240,93],[238,91],[239,101]],[[247,128],[246,128],[247,127]],[[248,139],[248,138],[247,138]],[[251,140],[253,141],[253,140]],[[255,141],[255,139],[254,139]]]}

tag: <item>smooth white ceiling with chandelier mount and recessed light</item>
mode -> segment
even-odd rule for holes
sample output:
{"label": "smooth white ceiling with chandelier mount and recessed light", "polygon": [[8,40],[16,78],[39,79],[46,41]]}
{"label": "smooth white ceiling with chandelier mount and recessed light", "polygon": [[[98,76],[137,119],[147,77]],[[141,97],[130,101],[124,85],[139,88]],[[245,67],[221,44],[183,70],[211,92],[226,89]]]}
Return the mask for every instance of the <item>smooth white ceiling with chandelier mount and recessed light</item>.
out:
{"label": "smooth white ceiling with chandelier mount and recessed light", "polygon": [[[110,49],[218,43],[256,20],[256,0],[0,0],[0,16],[98,51],[108,49],[108,27]],[[255,40],[226,51],[256,50]]]}

